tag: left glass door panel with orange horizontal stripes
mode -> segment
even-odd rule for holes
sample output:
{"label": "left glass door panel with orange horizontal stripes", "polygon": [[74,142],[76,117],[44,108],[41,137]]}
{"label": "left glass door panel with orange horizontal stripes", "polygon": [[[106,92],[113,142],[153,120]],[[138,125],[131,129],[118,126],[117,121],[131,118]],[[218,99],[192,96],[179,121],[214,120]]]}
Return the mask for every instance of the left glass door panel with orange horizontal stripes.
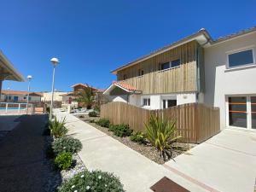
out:
{"label": "left glass door panel with orange horizontal stripes", "polygon": [[247,128],[247,96],[229,97],[230,126]]}

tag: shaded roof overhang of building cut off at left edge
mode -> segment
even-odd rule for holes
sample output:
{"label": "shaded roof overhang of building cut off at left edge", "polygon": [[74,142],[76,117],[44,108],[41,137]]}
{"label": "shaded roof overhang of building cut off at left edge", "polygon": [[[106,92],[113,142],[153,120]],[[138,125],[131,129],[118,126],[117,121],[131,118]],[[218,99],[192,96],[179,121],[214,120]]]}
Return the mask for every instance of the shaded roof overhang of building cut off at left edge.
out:
{"label": "shaded roof overhang of building cut off at left edge", "polygon": [[12,65],[12,63],[0,51],[0,96],[4,80],[14,80],[20,82],[25,81],[22,75]]}

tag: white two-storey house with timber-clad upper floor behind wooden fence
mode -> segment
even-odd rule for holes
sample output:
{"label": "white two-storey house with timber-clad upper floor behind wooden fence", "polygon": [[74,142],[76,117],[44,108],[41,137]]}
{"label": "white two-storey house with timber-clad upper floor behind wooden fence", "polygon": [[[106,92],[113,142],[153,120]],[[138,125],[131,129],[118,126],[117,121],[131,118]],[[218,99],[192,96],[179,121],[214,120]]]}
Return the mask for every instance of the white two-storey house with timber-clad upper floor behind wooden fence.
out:
{"label": "white two-storey house with timber-clad upper floor behind wooden fence", "polygon": [[202,28],[112,73],[113,102],[162,109],[202,102],[220,109],[220,127],[256,130],[256,26],[213,39]]}

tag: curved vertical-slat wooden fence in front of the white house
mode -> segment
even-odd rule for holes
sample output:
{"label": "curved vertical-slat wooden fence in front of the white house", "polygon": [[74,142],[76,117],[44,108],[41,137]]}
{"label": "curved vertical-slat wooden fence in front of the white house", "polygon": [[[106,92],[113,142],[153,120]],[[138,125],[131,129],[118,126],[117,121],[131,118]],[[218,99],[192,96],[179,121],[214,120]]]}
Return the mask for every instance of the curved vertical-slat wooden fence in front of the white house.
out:
{"label": "curved vertical-slat wooden fence in front of the white house", "polygon": [[202,143],[219,132],[219,109],[201,103],[148,110],[125,102],[109,102],[101,107],[101,118],[113,124],[129,124],[134,131],[144,131],[150,115],[176,119],[177,132],[184,143]]}

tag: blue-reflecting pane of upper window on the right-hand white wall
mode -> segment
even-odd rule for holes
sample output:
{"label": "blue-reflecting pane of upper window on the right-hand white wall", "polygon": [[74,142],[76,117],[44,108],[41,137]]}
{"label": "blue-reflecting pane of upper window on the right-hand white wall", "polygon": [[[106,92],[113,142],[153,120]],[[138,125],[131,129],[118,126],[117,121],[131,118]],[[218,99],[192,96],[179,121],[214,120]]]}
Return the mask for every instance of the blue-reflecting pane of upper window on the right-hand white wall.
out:
{"label": "blue-reflecting pane of upper window on the right-hand white wall", "polygon": [[253,64],[253,49],[243,50],[228,55],[229,67],[239,67]]}

